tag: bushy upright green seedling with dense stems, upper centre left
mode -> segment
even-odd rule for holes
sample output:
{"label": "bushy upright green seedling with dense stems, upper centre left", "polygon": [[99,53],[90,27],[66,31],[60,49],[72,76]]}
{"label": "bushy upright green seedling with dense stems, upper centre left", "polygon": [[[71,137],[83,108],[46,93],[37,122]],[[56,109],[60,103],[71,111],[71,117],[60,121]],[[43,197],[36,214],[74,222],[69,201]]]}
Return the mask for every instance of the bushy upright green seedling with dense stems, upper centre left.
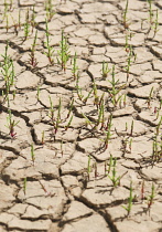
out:
{"label": "bushy upright green seedling with dense stems, upper centre left", "polygon": [[64,35],[64,31],[62,31],[62,40],[60,42],[57,62],[58,64],[61,64],[62,70],[64,70],[64,72],[66,72],[66,65],[69,57],[71,57],[71,52],[67,43],[67,38]]}

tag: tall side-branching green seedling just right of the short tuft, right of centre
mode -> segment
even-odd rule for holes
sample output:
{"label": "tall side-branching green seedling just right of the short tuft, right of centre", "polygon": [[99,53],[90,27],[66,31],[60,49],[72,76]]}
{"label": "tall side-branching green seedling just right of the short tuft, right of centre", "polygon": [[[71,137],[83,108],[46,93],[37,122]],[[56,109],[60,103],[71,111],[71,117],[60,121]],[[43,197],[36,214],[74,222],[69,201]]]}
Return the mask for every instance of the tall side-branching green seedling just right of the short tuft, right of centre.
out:
{"label": "tall side-branching green seedling just right of the short tuft, right of centre", "polygon": [[118,96],[118,94],[125,87],[125,85],[119,88],[117,87],[119,80],[117,80],[117,81],[115,80],[115,75],[116,75],[115,74],[115,65],[112,66],[111,75],[112,75],[112,80],[109,81],[109,83],[111,84],[111,89],[108,89],[108,93],[111,97],[111,103],[112,103],[114,107],[116,107],[117,104],[119,103],[120,98],[122,97],[122,95]]}

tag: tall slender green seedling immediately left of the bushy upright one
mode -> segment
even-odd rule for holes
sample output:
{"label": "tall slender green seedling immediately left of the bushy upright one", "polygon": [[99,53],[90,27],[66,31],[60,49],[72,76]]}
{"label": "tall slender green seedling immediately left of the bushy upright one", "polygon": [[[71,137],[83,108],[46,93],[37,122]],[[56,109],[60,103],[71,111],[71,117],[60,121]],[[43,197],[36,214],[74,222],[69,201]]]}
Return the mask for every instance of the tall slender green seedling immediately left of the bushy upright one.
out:
{"label": "tall slender green seedling immediately left of the bushy upright one", "polygon": [[47,56],[50,64],[54,64],[54,59],[53,59],[53,54],[54,54],[54,49],[53,46],[50,45],[50,32],[48,32],[48,25],[47,25],[47,20],[45,21],[45,35],[46,35],[46,42],[45,45],[47,48],[47,52],[45,52],[45,55]]}

